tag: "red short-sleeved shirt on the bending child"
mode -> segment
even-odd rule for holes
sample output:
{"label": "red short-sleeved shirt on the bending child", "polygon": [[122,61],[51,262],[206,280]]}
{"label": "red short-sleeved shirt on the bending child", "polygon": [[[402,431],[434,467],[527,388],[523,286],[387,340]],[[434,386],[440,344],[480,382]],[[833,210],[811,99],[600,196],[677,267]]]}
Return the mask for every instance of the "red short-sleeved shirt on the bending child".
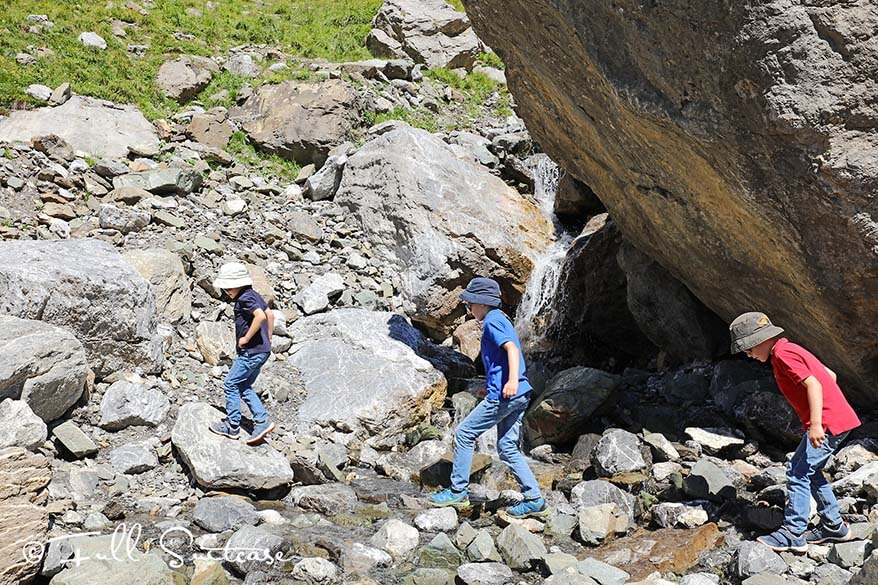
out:
{"label": "red short-sleeved shirt on the bending child", "polygon": [[811,426],[808,391],[802,384],[808,376],[814,376],[823,386],[824,429],[838,435],[860,426],[860,419],[841,393],[841,388],[810,351],[785,337],[778,339],[771,354],[771,365],[780,391],[802,420],[802,428]]}

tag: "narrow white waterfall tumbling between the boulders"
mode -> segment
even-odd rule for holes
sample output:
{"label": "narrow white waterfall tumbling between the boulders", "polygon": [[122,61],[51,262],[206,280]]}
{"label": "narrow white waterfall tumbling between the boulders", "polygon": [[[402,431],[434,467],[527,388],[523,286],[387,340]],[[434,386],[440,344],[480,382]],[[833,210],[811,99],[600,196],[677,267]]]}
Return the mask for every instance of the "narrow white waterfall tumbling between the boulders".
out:
{"label": "narrow white waterfall tumbling between the boulders", "polygon": [[534,198],[543,214],[555,226],[557,239],[534,262],[524,295],[515,313],[515,329],[526,352],[539,351],[543,345],[543,333],[558,289],[561,267],[574,238],[555,217],[555,194],[559,178],[558,165],[549,157],[540,157],[534,168]]}

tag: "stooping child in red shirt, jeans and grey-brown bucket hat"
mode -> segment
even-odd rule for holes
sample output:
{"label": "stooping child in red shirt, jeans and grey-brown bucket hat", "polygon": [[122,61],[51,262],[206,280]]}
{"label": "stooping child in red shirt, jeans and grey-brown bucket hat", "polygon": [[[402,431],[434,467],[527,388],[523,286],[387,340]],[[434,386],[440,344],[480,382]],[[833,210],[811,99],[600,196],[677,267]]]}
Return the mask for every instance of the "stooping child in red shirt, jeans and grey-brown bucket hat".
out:
{"label": "stooping child in red shirt, jeans and grey-brown bucket hat", "polygon": [[[802,420],[805,434],[787,466],[787,505],[783,526],[757,540],[775,551],[804,552],[808,544],[842,542],[852,538],[842,521],[838,502],[823,476],[823,466],[860,419],[845,400],[835,372],[807,349],[781,337],[763,313],[744,313],[729,327],[732,353],[771,360],[774,378]],[[811,496],[817,502],[820,525],[805,532]]]}

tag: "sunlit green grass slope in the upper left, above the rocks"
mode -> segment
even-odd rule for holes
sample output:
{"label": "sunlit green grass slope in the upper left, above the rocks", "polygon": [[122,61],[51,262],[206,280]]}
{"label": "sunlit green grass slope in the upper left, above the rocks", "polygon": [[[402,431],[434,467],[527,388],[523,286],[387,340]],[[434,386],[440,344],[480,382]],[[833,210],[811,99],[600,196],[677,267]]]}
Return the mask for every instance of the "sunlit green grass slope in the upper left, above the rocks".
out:
{"label": "sunlit green grass slope in the upper left, above the rocks", "polygon": [[[6,0],[0,10],[0,111],[30,104],[23,91],[32,83],[56,87],[69,81],[76,93],[135,103],[150,119],[165,117],[178,108],[155,86],[158,68],[167,57],[225,54],[231,47],[254,43],[304,58],[366,59],[370,55],[364,39],[381,3],[214,0],[211,10],[207,0],[154,0],[144,3],[151,8],[143,15],[122,0]],[[202,14],[188,14],[187,9],[193,8]],[[54,28],[27,32],[29,14],[48,15]],[[114,19],[132,25],[125,27],[124,38],[113,36]],[[84,47],[78,36],[86,31],[101,35],[107,49]],[[175,33],[181,34],[175,37]],[[149,48],[135,57],[128,53],[129,44]],[[17,53],[35,54],[33,48],[39,47],[51,53],[39,57],[36,65],[16,62]],[[240,80],[221,79],[215,87],[239,88]]]}

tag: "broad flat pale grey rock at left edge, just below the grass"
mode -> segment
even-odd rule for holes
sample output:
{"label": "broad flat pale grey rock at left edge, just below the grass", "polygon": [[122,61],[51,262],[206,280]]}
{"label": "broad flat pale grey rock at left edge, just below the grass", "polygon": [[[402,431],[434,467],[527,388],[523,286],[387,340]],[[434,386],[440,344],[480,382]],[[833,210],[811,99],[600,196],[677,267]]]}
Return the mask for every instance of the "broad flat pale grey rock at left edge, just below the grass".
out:
{"label": "broad flat pale grey rock at left edge, just below the grass", "polygon": [[155,127],[135,106],[89,97],[74,96],[58,107],[16,110],[0,119],[0,141],[29,143],[47,134],[57,134],[74,150],[102,158],[123,158],[129,146],[159,145]]}

